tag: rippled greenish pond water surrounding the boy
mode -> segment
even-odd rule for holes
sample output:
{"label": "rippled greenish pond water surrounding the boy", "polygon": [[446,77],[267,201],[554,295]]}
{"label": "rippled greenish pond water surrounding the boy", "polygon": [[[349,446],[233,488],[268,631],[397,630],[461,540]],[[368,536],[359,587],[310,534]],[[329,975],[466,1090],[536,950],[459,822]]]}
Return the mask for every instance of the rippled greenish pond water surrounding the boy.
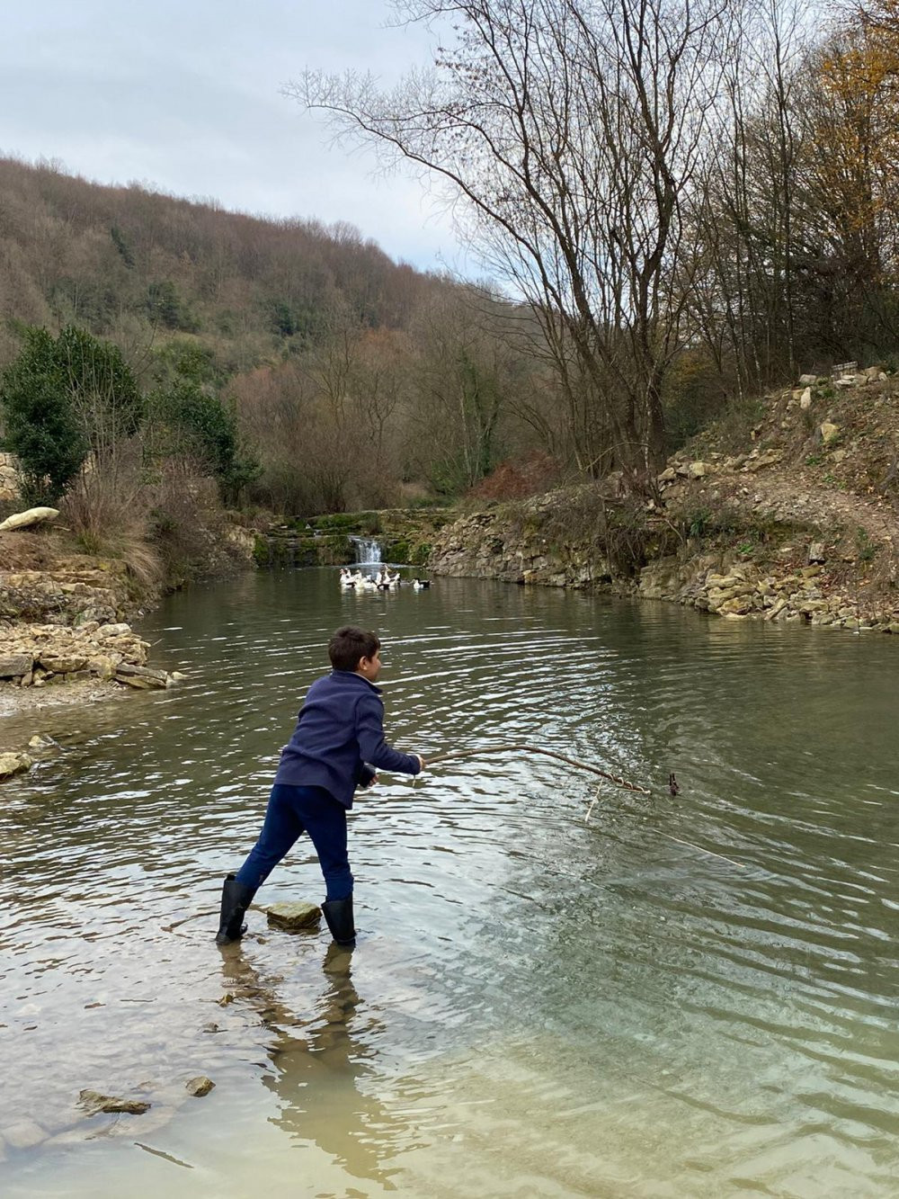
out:
{"label": "rippled greenish pond water surrounding the boy", "polygon": [[[357,800],[354,953],[259,906],[218,950],[346,621],[393,743],[484,752]],[[899,1192],[899,639],[331,570],[144,627],[187,681],[44,713],[64,753],[2,790],[5,1197]],[[322,894],[301,840],[257,898]]]}

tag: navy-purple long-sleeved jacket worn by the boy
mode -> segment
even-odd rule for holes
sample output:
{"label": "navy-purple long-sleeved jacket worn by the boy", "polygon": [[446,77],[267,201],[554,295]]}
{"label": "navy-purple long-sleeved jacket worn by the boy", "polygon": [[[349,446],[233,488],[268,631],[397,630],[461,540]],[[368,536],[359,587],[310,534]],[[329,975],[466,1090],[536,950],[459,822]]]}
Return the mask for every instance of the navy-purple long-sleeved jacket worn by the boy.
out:
{"label": "navy-purple long-sleeved jacket worn by the boy", "polygon": [[364,764],[417,775],[418,759],[384,740],[381,688],[350,670],[332,670],[309,687],[294,735],[280,752],[276,783],[324,787],[345,808]]}

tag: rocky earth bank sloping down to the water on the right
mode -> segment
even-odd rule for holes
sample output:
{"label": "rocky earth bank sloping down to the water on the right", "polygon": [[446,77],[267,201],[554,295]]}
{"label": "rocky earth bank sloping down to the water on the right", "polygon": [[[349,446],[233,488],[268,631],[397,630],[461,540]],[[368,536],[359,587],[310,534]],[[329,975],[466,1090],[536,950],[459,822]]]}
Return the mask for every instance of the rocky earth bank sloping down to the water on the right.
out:
{"label": "rocky earth bank sloping down to the water on the right", "polygon": [[899,633],[899,405],[880,368],[803,376],[675,454],[657,498],[579,486],[469,512],[436,574],[602,589],[730,620]]}

